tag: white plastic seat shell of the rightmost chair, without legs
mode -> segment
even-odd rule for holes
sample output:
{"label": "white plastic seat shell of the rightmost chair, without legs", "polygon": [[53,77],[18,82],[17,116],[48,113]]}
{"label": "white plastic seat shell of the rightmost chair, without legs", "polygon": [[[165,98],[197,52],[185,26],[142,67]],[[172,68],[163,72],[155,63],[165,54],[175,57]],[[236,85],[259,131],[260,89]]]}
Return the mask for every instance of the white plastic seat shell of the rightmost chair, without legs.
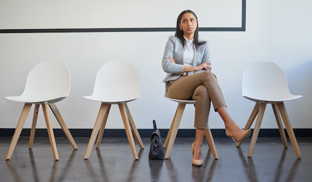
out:
{"label": "white plastic seat shell of the rightmost chair, without legs", "polygon": [[246,67],[242,94],[254,101],[285,101],[301,97],[290,93],[284,71],[273,62],[254,62]]}

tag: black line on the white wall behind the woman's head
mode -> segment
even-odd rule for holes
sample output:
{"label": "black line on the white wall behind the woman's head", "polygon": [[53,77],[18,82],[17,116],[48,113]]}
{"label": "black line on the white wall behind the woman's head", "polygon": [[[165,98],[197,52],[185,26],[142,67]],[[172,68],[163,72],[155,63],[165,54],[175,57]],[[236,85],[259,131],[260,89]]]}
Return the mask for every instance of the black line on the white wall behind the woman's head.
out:
{"label": "black line on the white wall behind the woman's head", "polygon": [[[200,27],[199,31],[245,31],[246,0],[242,0],[241,27]],[[51,28],[51,29],[0,29],[0,33],[84,33],[84,32],[167,32],[175,28]]]}

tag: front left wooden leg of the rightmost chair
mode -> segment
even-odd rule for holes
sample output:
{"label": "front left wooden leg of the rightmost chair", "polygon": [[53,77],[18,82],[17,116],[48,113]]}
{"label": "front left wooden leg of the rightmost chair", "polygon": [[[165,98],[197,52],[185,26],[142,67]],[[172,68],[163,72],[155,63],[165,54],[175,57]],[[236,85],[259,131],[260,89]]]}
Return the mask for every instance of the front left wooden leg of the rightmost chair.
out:
{"label": "front left wooden leg of the rightmost chair", "polygon": [[257,120],[256,120],[256,124],[255,124],[255,128],[251,137],[251,141],[250,141],[250,146],[249,146],[249,151],[247,154],[247,157],[251,157],[254,149],[255,149],[255,145],[258,139],[258,135],[259,135],[259,131],[260,131],[260,126],[261,126],[261,122],[263,119],[263,115],[264,115],[264,111],[266,109],[266,105],[267,103],[261,102],[260,103],[260,107],[259,107],[259,111],[258,111],[258,116],[257,116]]}

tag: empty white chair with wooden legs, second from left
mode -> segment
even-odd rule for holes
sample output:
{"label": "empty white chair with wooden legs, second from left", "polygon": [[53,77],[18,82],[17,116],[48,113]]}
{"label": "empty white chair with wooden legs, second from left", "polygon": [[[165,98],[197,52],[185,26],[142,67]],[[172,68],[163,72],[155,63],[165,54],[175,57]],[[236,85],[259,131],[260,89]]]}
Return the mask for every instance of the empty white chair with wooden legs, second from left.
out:
{"label": "empty white chair with wooden legs, second from left", "polygon": [[96,148],[100,147],[107,117],[112,104],[118,104],[125,125],[130,148],[134,159],[139,159],[133,138],[134,133],[140,148],[144,148],[140,134],[131,116],[127,103],[141,96],[140,75],[129,62],[107,62],[98,71],[92,95],[87,99],[101,102],[101,107],[95,121],[84,159],[90,157],[97,137]]}

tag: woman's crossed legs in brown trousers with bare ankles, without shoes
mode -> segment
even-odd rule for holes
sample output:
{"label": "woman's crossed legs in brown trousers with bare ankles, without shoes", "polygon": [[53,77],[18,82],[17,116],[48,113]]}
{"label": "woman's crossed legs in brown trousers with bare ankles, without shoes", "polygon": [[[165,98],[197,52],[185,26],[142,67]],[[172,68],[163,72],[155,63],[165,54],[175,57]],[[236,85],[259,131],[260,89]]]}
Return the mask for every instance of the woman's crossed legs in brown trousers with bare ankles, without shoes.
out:
{"label": "woman's crossed legs in brown trousers with bare ankles, without shoes", "polygon": [[[198,92],[203,92],[202,86],[205,87],[205,94],[198,94],[196,98]],[[217,111],[223,119],[226,130],[230,131],[231,135],[233,135],[231,137],[236,137],[244,133],[244,130],[235,123],[228,113],[223,93],[213,73],[206,71],[186,77],[179,77],[176,81],[171,81],[167,93],[170,98],[196,100],[197,106],[195,105],[194,122],[196,136],[193,146],[193,159],[202,159],[201,146],[205,129],[208,126],[210,100],[215,111]],[[202,97],[205,99],[201,99]],[[209,98],[209,100],[206,98]]]}

